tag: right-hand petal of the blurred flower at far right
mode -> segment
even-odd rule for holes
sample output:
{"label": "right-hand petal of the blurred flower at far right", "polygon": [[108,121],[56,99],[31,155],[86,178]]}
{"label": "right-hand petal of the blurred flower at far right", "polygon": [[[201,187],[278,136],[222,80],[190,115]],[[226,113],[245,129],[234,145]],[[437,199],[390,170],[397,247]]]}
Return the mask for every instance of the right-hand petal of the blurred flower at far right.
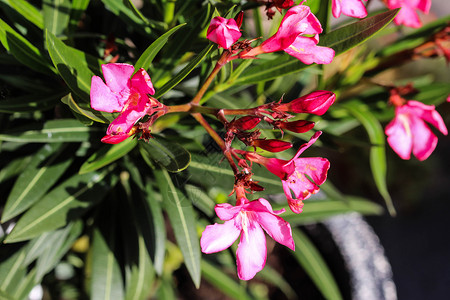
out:
{"label": "right-hand petal of the blurred flower at far right", "polygon": [[413,135],[412,150],[418,160],[427,159],[436,148],[438,138],[430,128],[419,118],[411,118],[411,132]]}

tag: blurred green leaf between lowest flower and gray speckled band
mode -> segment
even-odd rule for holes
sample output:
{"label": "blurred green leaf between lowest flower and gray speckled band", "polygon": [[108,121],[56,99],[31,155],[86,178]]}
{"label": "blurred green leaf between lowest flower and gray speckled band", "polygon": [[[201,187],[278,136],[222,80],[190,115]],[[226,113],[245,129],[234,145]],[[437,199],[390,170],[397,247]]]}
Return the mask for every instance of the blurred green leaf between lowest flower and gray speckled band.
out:
{"label": "blurred green leaf between lowest flower and gray speckled band", "polygon": [[333,278],[320,252],[309,238],[300,230],[292,230],[295,242],[295,252],[291,252],[305,272],[315,283],[319,291],[328,300],[342,299],[338,285]]}

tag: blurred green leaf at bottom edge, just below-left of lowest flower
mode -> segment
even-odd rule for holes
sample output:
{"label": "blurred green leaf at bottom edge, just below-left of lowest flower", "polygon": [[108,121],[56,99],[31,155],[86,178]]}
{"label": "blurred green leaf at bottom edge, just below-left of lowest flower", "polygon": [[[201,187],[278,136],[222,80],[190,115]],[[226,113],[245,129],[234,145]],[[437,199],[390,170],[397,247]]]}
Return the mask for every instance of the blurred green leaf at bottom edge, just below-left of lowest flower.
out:
{"label": "blurred green leaf at bottom edge, just below-left of lowest flower", "polygon": [[252,299],[245,286],[233,280],[224,271],[207,260],[202,261],[202,276],[222,293],[233,299]]}

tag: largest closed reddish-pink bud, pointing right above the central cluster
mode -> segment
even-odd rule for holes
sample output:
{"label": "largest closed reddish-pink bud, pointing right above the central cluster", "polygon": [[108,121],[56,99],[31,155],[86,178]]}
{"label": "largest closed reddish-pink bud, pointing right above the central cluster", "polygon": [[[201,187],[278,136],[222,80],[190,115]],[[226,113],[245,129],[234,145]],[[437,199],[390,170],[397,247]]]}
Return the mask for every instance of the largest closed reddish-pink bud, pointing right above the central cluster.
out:
{"label": "largest closed reddish-pink bud, pointing right above the central cluster", "polygon": [[308,95],[281,104],[278,109],[294,113],[323,115],[336,100],[336,95],[329,91],[315,91]]}

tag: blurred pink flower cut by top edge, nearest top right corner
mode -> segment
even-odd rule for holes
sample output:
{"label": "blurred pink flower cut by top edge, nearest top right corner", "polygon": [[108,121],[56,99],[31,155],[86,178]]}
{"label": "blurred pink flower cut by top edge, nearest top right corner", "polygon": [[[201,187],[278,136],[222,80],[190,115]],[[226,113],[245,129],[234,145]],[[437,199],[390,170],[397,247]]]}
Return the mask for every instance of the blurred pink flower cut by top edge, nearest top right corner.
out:
{"label": "blurred pink flower cut by top edge, nearest top right corner", "polygon": [[401,8],[394,19],[397,25],[419,28],[422,26],[416,9],[425,14],[430,12],[431,0],[385,0],[389,9]]}

